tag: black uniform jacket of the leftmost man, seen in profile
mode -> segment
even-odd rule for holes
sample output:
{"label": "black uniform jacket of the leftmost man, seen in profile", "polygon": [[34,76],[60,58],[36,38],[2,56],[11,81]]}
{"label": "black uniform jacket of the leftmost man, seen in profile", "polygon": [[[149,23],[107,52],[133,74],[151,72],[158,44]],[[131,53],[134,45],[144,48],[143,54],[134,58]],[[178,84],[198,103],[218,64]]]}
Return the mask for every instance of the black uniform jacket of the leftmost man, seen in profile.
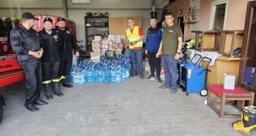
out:
{"label": "black uniform jacket of the leftmost man, seen in profile", "polygon": [[23,25],[15,27],[10,32],[10,40],[14,53],[18,53],[17,60],[19,64],[37,64],[40,58],[28,55],[29,51],[40,51],[43,49],[43,43],[34,29],[27,30]]}

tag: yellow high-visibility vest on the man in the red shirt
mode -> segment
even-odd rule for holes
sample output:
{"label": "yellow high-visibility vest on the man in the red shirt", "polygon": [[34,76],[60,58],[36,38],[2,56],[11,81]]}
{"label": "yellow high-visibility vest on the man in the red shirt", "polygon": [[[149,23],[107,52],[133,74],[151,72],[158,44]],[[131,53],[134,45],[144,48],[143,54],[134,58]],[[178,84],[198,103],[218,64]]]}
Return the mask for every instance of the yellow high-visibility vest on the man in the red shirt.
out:
{"label": "yellow high-visibility vest on the man in the red shirt", "polygon": [[[140,38],[140,36],[139,36],[139,27],[135,26],[133,28],[132,33],[130,32],[130,28],[128,28],[126,30],[126,35],[127,35],[127,38],[130,42],[134,42],[134,41],[138,40]],[[137,48],[137,47],[142,48],[142,46],[143,46],[143,40],[141,40],[140,42],[137,42],[137,44],[135,44],[133,46],[129,45],[129,49],[134,49],[134,48]]]}

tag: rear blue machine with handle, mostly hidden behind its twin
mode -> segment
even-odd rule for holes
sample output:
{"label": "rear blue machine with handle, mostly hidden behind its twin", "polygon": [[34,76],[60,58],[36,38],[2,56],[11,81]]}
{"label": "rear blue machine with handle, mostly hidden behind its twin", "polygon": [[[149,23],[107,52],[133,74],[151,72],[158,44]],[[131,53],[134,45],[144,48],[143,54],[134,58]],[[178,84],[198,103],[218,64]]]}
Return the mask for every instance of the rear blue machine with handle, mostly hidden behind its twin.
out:
{"label": "rear blue machine with handle, mostly hidden behind its twin", "polygon": [[[185,55],[185,54],[184,54]],[[181,85],[181,67],[182,66],[196,66],[196,64],[198,64],[198,62],[200,61],[202,55],[198,55],[199,59],[196,63],[193,63],[192,60],[196,57],[195,54],[192,59],[190,60],[190,62],[187,62],[187,55],[185,55],[185,61],[178,61],[177,63],[177,68],[178,68],[178,80],[177,80],[177,85]]]}

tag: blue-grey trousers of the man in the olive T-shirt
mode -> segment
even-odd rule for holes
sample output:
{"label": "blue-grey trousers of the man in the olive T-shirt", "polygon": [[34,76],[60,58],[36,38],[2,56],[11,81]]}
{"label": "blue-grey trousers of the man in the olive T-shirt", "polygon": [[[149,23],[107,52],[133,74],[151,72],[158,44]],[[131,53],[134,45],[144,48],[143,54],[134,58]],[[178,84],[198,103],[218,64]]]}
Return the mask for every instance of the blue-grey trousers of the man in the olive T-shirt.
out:
{"label": "blue-grey trousers of the man in the olive T-shirt", "polygon": [[165,86],[177,86],[177,60],[174,55],[162,55],[163,70],[165,71]]}

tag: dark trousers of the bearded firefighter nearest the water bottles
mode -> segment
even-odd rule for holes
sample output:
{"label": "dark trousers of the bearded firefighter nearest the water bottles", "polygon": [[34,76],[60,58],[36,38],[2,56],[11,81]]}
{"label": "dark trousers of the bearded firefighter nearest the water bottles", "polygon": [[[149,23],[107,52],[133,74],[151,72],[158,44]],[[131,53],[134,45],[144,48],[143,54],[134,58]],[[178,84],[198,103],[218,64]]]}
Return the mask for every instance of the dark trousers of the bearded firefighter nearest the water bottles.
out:
{"label": "dark trousers of the bearded firefighter nearest the water bottles", "polygon": [[59,76],[68,77],[72,67],[72,53],[60,54]]}

